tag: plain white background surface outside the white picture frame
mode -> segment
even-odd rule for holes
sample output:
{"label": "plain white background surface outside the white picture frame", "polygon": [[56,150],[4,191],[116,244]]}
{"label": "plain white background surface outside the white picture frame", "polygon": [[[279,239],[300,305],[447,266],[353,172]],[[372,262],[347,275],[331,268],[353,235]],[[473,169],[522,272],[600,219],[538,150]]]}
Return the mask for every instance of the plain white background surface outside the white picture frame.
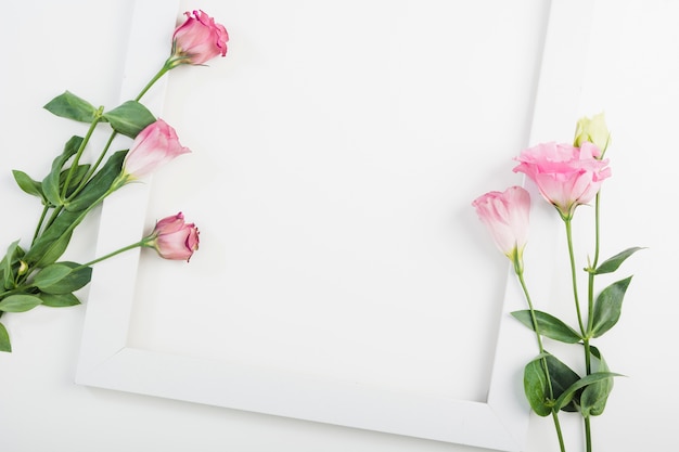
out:
{"label": "plain white background surface outside the white picture frame", "polygon": [[[618,4],[597,3],[598,40],[589,53],[584,52],[581,63],[582,70],[595,79],[581,93],[578,113],[605,108],[614,131],[608,156],[615,158],[615,173],[606,184],[610,204],[604,219],[611,225],[605,230],[604,250],[608,253],[604,254],[630,245],[650,249],[630,262],[628,269],[637,276],[623,320],[600,341],[613,369],[630,377],[616,384],[607,412],[594,419],[594,436],[601,450],[674,450],[677,396],[669,391],[648,397],[653,393],[649,388],[659,386],[658,369],[671,371],[667,361],[672,358],[668,350],[674,337],[669,332],[677,314],[671,282],[679,244],[671,229],[672,214],[666,208],[674,205],[672,165],[677,164],[671,132],[679,120],[675,109],[679,68],[671,55],[679,41],[674,28],[679,11],[675,3],[664,1],[631,1],[627,8],[615,8]],[[102,104],[116,102],[124,59],[116,46],[125,40],[120,37],[127,37],[130,3],[74,1],[52,7],[24,2],[21,8],[9,8],[8,17],[17,22],[2,29],[3,41],[24,46],[7,49],[0,88],[0,140],[3,155],[12,156],[0,163],[0,176],[5,175],[0,179],[2,201],[5,212],[16,214],[4,222],[7,243],[24,236],[35,222],[27,218],[33,209],[27,216],[21,214],[26,197],[14,188],[9,170],[40,173],[47,163],[33,150],[44,148],[51,156],[71,132],[39,105],[64,89]],[[38,24],[18,22],[29,17]],[[72,28],[76,24],[77,30]],[[104,52],[102,57],[102,49],[118,50]],[[74,60],[74,54],[86,52],[102,60],[64,64],[66,57]],[[34,132],[36,127],[40,133]],[[572,128],[566,129],[560,139],[571,138]],[[30,153],[23,151],[27,147]],[[615,228],[615,222],[624,227]],[[85,238],[95,237],[90,233]],[[74,253],[87,255],[91,249],[81,246]],[[82,308],[37,309],[3,318],[15,347],[14,353],[0,356],[0,383],[5,389],[0,405],[3,450],[478,450],[75,386],[82,313]],[[659,378],[668,377],[661,374]],[[569,431],[572,426],[566,424]],[[38,429],[40,435],[36,435]],[[556,450],[549,419],[534,419],[527,450]]]}

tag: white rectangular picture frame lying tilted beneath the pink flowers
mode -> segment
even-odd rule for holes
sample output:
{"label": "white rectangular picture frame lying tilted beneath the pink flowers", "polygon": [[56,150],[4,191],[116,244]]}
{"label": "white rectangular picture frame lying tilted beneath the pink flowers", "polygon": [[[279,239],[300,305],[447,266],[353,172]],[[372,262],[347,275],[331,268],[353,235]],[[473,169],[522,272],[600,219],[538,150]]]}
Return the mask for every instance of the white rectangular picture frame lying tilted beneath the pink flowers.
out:
{"label": "white rectangular picture frame lying tilted beneath the pink flowers", "polygon": [[[530,142],[554,140],[555,137],[568,139],[572,133],[569,127],[576,119],[584,76],[577,65],[561,62],[577,61],[581,49],[587,47],[591,8],[591,2],[584,0],[551,2],[539,77],[536,77],[539,83],[534,91]],[[169,36],[168,30],[171,33],[179,13],[178,0],[137,1],[123,100],[143,86],[149,72],[159,67],[167,56],[167,41],[149,37]],[[232,40],[236,39],[232,36]],[[154,112],[163,111],[167,94],[164,87],[165,81],[161,81],[144,100]],[[511,155],[508,165],[510,169]],[[475,177],[485,182],[486,173],[482,169]],[[502,190],[494,185],[492,180],[487,182],[490,184],[485,191]],[[100,254],[136,242],[148,232],[152,186],[151,180],[132,184],[106,199],[100,220]],[[471,203],[482,193],[465,193],[464,196],[469,196]],[[470,211],[473,215],[471,206]],[[120,222],[120,218],[128,221]],[[534,206],[531,243],[541,245],[528,249],[527,254],[549,251],[550,238],[545,229],[554,225],[552,220],[543,209]],[[489,236],[487,238],[490,243]],[[491,249],[490,246],[484,249]],[[201,249],[182,271],[191,268],[201,253],[208,251]],[[488,261],[502,259],[490,253],[486,257]],[[482,325],[482,328],[498,332],[490,358],[487,397],[479,401],[323,378],[229,357],[141,347],[132,332],[137,292],[143,284],[138,277],[141,260],[139,250],[136,250],[97,266],[87,301],[76,375],[78,384],[494,450],[521,451],[524,448],[529,409],[523,397],[522,372],[527,360],[536,353],[533,336],[508,314],[525,309],[522,293],[509,270],[504,300],[498,305],[500,313],[492,318],[495,321],[490,322],[490,327]],[[163,263],[163,270],[169,264],[181,263]],[[549,290],[549,270],[545,266],[531,276],[538,295]],[[501,284],[501,281],[489,284]],[[463,297],[474,295],[474,287],[462,286],[459,290]],[[192,327],[178,334],[197,333],[201,311],[187,307],[183,314],[195,321],[191,323]],[[450,347],[449,344],[434,346],[439,353],[446,353]]]}

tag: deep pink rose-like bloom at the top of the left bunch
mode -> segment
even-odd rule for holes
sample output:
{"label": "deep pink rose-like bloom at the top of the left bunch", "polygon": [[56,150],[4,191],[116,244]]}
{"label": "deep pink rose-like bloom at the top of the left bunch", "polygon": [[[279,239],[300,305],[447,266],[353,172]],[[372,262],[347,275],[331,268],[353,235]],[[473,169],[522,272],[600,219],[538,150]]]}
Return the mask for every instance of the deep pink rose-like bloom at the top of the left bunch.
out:
{"label": "deep pink rose-like bloom at the top of the left bunch", "polygon": [[203,64],[215,56],[227,54],[229,34],[223,25],[203,11],[184,13],[187,21],[172,35],[170,67],[180,64]]}

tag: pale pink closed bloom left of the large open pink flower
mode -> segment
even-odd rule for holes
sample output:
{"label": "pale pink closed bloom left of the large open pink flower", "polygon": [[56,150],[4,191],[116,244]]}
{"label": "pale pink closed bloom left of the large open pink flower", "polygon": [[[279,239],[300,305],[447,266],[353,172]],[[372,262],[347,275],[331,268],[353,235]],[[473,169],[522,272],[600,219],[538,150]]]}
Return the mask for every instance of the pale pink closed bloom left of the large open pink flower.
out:
{"label": "pale pink closed bloom left of the large open pink flower", "polygon": [[488,192],[472,203],[481,221],[486,224],[497,247],[523,271],[523,251],[528,241],[530,195],[521,186],[504,192]]}

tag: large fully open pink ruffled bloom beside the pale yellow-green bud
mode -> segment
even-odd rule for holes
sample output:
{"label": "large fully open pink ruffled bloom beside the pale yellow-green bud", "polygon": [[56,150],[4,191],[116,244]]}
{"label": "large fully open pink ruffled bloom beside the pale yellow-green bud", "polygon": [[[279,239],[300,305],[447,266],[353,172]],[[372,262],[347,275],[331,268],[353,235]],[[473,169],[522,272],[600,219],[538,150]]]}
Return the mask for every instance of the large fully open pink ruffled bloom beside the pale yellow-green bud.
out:
{"label": "large fully open pink ruffled bloom beside the pale yellow-green bud", "polygon": [[611,176],[608,160],[599,156],[599,147],[589,142],[581,147],[542,143],[521,153],[514,172],[528,176],[542,197],[556,207],[564,220],[569,220],[575,208],[589,203]]}

